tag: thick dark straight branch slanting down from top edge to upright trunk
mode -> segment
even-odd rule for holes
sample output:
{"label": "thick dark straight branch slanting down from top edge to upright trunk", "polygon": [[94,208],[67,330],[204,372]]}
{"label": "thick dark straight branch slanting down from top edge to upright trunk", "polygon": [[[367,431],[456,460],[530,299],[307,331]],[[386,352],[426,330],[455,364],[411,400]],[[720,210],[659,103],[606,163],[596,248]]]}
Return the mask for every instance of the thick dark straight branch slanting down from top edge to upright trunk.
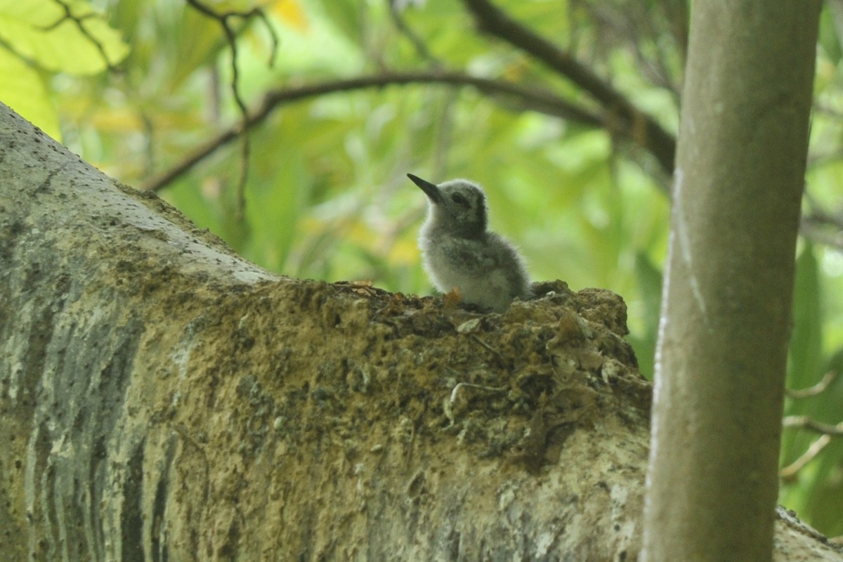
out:
{"label": "thick dark straight branch slanting down from top edge to upright trunk", "polygon": [[638,110],[623,94],[566,51],[561,51],[549,40],[518,24],[487,0],[463,0],[463,3],[474,14],[481,31],[529,53],[583,88],[603,106],[607,115],[614,117],[614,120],[608,116],[606,118],[607,122],[612,121],[615,125],[615,130],[610,132],[619,132],[620,136],[645,147],[656,157],[665,172],[673,174],[676,138],[665,131],[652,116]]}

